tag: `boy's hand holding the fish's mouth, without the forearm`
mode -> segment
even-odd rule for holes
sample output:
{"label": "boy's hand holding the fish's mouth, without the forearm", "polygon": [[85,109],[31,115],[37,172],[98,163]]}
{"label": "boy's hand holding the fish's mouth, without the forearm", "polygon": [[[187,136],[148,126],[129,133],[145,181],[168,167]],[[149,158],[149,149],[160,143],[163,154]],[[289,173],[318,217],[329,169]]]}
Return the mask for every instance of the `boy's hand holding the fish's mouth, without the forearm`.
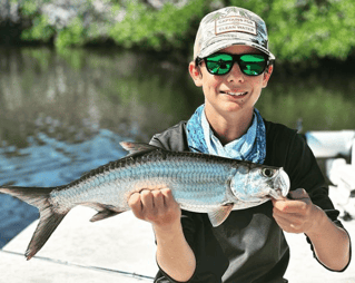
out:
{"label": "boy's hand holding the fish's mouth, without the forearm", "polygon": [[278,226],[288,233],[312,233],[323,211],[314,205],[303,188],[289,193],[290,199],[273,199],[274,218]]}

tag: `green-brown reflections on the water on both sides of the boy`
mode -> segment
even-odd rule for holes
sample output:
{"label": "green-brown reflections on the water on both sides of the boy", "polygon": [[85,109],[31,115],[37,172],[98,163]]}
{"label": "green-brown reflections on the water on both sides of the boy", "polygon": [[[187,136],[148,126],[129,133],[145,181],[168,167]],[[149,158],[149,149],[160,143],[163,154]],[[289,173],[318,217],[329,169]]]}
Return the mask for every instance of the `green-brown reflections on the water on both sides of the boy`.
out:
{"label": "green-brown reflections on the water on both sides of the boy", "polygon": [[[112,49],[0,49],[0,140],[19,147],[46,133],[79,143],[105,128],[148,140],[188,119],[201,89],[180,65]],[[305,130],[354,128],[354,75],[342,68],[283,76],[275,68],[257,107],[265,118]],[[82,138],[78,136],[82,136]]]}

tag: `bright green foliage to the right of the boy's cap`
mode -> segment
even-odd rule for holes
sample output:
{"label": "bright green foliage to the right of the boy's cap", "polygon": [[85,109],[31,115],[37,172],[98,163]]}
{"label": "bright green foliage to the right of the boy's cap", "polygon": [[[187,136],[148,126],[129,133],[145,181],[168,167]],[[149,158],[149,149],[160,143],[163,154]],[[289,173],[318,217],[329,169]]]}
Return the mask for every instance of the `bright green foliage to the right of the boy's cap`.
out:
{"label": "bright green foliage to the right of the boy's cap", "polygon": [[353,0],[230,0],[266,22],[277,59],[300,62],[333,57],[346,59],[355,46]]}

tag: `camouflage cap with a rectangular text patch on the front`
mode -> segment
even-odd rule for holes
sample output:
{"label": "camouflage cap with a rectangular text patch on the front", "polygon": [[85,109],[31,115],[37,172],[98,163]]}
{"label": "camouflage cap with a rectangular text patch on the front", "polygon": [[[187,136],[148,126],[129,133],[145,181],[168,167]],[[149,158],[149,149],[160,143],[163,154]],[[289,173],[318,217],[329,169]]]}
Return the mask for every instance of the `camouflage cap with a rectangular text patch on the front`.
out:
{"label": "camouflage cap with a rectangular text patch on the front", "polygon": [[238,7],[226,7],[203,18],[195,39],[194,59],[205,58],[234,45],[254,47],[275,60],[275,56],[268,50],[264,20]]}

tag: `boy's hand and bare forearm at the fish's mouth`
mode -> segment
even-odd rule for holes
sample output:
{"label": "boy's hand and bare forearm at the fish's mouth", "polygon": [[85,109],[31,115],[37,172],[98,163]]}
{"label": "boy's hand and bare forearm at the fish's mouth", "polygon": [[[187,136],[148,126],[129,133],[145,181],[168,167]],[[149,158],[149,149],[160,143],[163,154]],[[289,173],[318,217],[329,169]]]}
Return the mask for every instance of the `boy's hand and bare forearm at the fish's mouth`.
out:
{"label": "boy's hand and bare forearm at the fish's mouth", "polygon": [[305,233],[319,262],[334,271],[344,270],[351,258],[348,234],[312,203],[305,189],[297,188],[289,196],[292,199],[273,199],[277,224],[289,233]]}

